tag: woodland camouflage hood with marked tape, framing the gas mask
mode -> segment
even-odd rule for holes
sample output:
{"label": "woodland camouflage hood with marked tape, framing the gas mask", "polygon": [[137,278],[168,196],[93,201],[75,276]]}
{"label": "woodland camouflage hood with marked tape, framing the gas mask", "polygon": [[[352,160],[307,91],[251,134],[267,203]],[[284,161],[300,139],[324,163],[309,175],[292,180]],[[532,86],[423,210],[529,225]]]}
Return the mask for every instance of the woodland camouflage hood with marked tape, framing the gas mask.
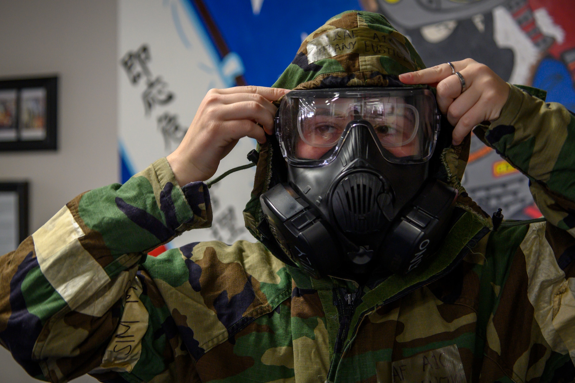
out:
{"label": "woodland camouflage hood with marked tape, framing the gas mask", "polygon": [[[398,75],[423,68],[425,64],[409,40],[397,32],[383,15],[354,10],[330,18],[310,33],[273,87],[294,90],[404,87]],[[472,212],[482,224],[490,227],[489,216],[471,201],[461,186],[469,156],[470,136],[461,145],[450,146],[452,129],[443,119],[435,154],[430,160],[430,174],[458,189],[457,205]],[[274,255],[279,255],[282,261],[290,263],[273,239],[267,240],[269,228],[259,202],[260,194],[276,183],[286,181],[285,160],[274,137],[268,138],[265,144],[259,146],[254,190],[244,210],[244,220],[252,235]]]}

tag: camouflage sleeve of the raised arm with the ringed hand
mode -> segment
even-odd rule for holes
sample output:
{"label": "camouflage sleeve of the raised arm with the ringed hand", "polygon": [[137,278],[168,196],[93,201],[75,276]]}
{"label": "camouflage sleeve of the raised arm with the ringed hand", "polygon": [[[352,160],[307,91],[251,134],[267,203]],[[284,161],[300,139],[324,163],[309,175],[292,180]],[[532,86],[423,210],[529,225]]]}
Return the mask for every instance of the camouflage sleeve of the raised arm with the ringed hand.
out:
{"label": "camouflage sleeve of the raised arm with the ringed hand", "polygon": [[543,216],[575,236],[575,116],[511,85],[507,104],[489,126],[474,130],[530,179]]}

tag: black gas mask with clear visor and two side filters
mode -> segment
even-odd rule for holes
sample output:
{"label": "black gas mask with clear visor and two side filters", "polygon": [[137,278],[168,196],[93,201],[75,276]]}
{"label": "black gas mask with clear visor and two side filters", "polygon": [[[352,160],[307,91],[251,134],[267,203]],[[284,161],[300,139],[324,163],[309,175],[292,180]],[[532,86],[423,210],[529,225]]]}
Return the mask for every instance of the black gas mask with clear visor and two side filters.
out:
{"label": "black gas mask with clear visor and two side filters", "polygon": [[419,266],[440,244],[457,197],[428,175],[439,121],[423,88],[288,93],[275,120],[287,182],[260,196],[283,252],[314,277]]}

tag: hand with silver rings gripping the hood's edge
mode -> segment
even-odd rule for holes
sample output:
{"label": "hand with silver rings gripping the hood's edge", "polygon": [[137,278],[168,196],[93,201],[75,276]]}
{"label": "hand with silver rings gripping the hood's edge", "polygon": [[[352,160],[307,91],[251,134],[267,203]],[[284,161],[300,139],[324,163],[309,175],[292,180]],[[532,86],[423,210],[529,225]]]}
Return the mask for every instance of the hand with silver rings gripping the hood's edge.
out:
{"label": "hand with silver rings gripping the hood's edge", "polygon": [[452,143],[459,145],[477,124],[499,118],[509,97],[509,86],[488,66],[473,59],[452,64],[465,79],[463,93],[459,77],[451,75],[451,67],[447,63],[404,73],[399,75],[399,79],[404,84],[429,84],[437,88],[439,110],[455,127]]}

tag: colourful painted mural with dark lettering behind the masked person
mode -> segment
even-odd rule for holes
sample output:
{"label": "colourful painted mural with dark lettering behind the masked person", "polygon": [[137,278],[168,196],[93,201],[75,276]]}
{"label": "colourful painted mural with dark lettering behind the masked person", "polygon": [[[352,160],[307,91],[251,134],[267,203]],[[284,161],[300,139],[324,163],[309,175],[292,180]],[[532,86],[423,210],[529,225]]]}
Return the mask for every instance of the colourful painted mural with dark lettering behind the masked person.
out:
{"label": "colourful painted mural with dark lettering behind the masked person", "polygon": [[[384,14],[427,66],[467,57],[511,83],[547,90],[547,101],[575,110],[575,3],[572,0],[119,0],[118,139],[122,182],[177,147],[212,87],[271,85],[308,33],[336,13]],[[248,163],[242,139],[216,175]],[[212,228],[198,240],[254,240],[241,211],[254,168],[216,183]],[[540,215],[527,179],[476,138],[463,180],[471,196],[506,218]],[[159,248],[160,252],[165,247]]]}

